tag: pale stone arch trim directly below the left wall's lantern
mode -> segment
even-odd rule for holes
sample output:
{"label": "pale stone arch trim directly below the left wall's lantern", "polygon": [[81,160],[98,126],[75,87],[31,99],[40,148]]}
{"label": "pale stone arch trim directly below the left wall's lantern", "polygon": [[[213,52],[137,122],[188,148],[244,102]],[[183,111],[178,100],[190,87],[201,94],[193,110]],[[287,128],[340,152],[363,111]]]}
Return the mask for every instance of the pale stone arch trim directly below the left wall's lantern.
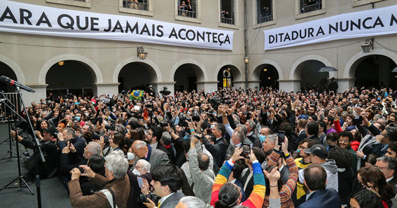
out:
{"label": "pale stone arch trim directly below the left wall's lantern", "polygon": [[118,75],[120,74],[121,69],[129,63],[132,62],[138,62],[139,64],[144,64],[146,67],[150,67],[151,69],[148,69],[149,74],[151,75],[151,82],[159,82],[162,81],[162,74],[160,71],[160,68],[158,67],[155,62],[151,60],[139,60],[138,57],[127,57],[125,60],[121,61],[120,63],[117,64],[116,68],[113,71],[113,83],[118,82]]}

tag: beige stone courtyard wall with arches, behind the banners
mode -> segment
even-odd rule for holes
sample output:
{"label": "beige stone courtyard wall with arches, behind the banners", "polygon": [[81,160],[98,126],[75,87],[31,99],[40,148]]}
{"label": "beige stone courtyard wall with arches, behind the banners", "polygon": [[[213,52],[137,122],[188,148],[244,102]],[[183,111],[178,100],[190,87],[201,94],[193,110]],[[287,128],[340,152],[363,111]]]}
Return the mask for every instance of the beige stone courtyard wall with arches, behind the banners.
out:
{"label": "beige stone courtyard wall with arches, behind the banners", "polygon": [[[19,1],[27,4],[67,8],[77,11],[133,15],[140,18],[195,27],[226,29],[235,32],[233,50],[231,51],[0,32],[0,40],[3,42],[0,47],[0,61],[8,64],[14,70],[19,81],[38,90],[36,94],[30,93],[27,95],[27,100],[37,100],[39,97],[45,96],[46,73],[53,64],[62,60],[76,60],[87,64],[92,69],[92,73],[95,74],[97,83],[94,91],[98,94],[116,93],[118,73],[125,64],[130,62],[144,62],[153,68],[152,73],[155,73],[157,78],[152,80],[157,88],[168,86],[173,90],[174,72],[182,64],[195,64],[202,71],[203,76],[197,79],[197,88],[205,88],[207,92],[216,89],[218,71],[226,64],[233,65],[239,70],[235,86],[244,87],[244,0],[235,0],[236,25],[233,26],[220,23],[220,4],[219,1],[215,0],[197,0],[199,15],[197,20],[194,21],[187,21],[186,18],[176,15],[176,0],[150,0],[150,8],[146,13],[141,11],[126,13],[119,6],[120,2],[122,2],[121,0],[91,0],[87,4],[78,6],[67,5],[72,2],[69,0]],[[397,62],[396,35],[376,36],[375,41],[391,50],[382,48],[382,46],[375,43],[374,50],[368,54],[363,53],[361,50],[363,38],[265,51],[263,49],[263,30],[265,29],[284,27],[342,13],[372,9],[372,4],[362,4],[364,1],[322,0],[325,8],[320,12],[299,15],[297,11],[298,1],[273,0],[274,20],[258,25],[256,24],[256,0],[246,0],[248,55],[250,57],[248,80],[250,87],[258,86],[259,74],[254,69],[261,64],[272,64],[279,71],[280,88],[282,90],[296,91],[299,90],[300,73],[296,73],[295,69],[299,64],[307,60],[318,60],[327,66],[337,68],[338,72],[330,74],[330,76],[340,78],[340,90],[344,90],[354,83],[351,79],[353,77],[351,77],[350,67],[356,60],[365,55],[385,55]],[[377,1],[375,8],[394,4],[395,1],[393,0]],[[67,46],[69,48],[60,48],[58,46]],[[148,52],[146,60],[137,59],[137,49],[135,48],[137,46],[144,46],[146,52]]]}

